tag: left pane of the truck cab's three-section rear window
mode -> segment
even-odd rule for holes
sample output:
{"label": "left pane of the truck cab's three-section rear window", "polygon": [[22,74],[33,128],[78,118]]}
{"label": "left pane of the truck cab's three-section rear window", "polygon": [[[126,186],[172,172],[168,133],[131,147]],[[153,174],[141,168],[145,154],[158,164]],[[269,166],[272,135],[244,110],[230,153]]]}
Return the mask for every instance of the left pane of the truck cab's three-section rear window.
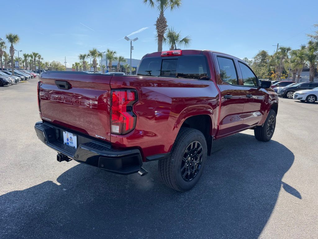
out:
{"label": "left pane of the truck cab's three-section rear window", "polygon": [[160,76],[161,58],[144,58],[140,62],[137,76]]}

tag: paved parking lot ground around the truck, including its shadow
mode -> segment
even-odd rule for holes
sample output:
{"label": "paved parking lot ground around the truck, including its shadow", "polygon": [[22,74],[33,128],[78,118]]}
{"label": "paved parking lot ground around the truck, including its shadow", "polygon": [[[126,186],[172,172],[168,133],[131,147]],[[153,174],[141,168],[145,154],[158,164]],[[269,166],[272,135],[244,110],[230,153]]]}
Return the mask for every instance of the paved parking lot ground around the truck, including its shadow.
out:
{"label": "paved parking lot ground around the truck, including its shadow", "polygon": [[200,182],[56,161],[40,142],[37,79],[0,88],[0,238],[317,238],[318,103],[280,98],[269,142],[215,141]]}

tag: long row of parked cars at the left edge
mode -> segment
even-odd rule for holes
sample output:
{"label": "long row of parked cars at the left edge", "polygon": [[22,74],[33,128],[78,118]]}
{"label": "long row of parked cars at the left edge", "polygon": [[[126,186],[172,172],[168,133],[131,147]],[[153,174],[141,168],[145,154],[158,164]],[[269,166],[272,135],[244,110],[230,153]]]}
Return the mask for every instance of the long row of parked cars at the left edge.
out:
{"label": "long row of parked cars at the left edge", "polygon": [[38,73],[34,73],[30,70],[24,69],[14,69],[14,76],[12,75],[11,69],[0,70],[0,86],[17,84],[24,80],[29,80],[31,78],[38,77]]}

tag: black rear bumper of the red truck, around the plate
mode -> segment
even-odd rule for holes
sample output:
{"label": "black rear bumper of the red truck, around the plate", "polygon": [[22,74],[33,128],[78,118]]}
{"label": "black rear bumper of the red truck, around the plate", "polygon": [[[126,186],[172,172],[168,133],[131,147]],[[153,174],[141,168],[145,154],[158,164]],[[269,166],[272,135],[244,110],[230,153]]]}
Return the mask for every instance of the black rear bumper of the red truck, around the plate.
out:
{"label": "black rear bumper of the red truck, around the plate", "polygon": [[[85,134],[48,122],[37,122],[34,128],[39,140],[79,163],[123,175],[136,173],[141,169],[142,156],[139,149],[114,149],[110,143],[96,141]],[[63,131],[77,135],[77,148],[63,143]]]}

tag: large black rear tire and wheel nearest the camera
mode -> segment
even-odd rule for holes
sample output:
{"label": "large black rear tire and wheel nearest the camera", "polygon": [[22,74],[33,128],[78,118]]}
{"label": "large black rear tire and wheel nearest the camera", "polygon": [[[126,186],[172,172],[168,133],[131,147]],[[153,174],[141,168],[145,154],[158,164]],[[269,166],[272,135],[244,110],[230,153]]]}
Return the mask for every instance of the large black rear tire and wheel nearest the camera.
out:
{"label": "large black rear tire and wheel nearest the camera", "polygon": [[206,158],[204,135],[196,129],[181,128],[169,157],[158,162],[159,177],[172,189],[188,191],[199,181]]}

